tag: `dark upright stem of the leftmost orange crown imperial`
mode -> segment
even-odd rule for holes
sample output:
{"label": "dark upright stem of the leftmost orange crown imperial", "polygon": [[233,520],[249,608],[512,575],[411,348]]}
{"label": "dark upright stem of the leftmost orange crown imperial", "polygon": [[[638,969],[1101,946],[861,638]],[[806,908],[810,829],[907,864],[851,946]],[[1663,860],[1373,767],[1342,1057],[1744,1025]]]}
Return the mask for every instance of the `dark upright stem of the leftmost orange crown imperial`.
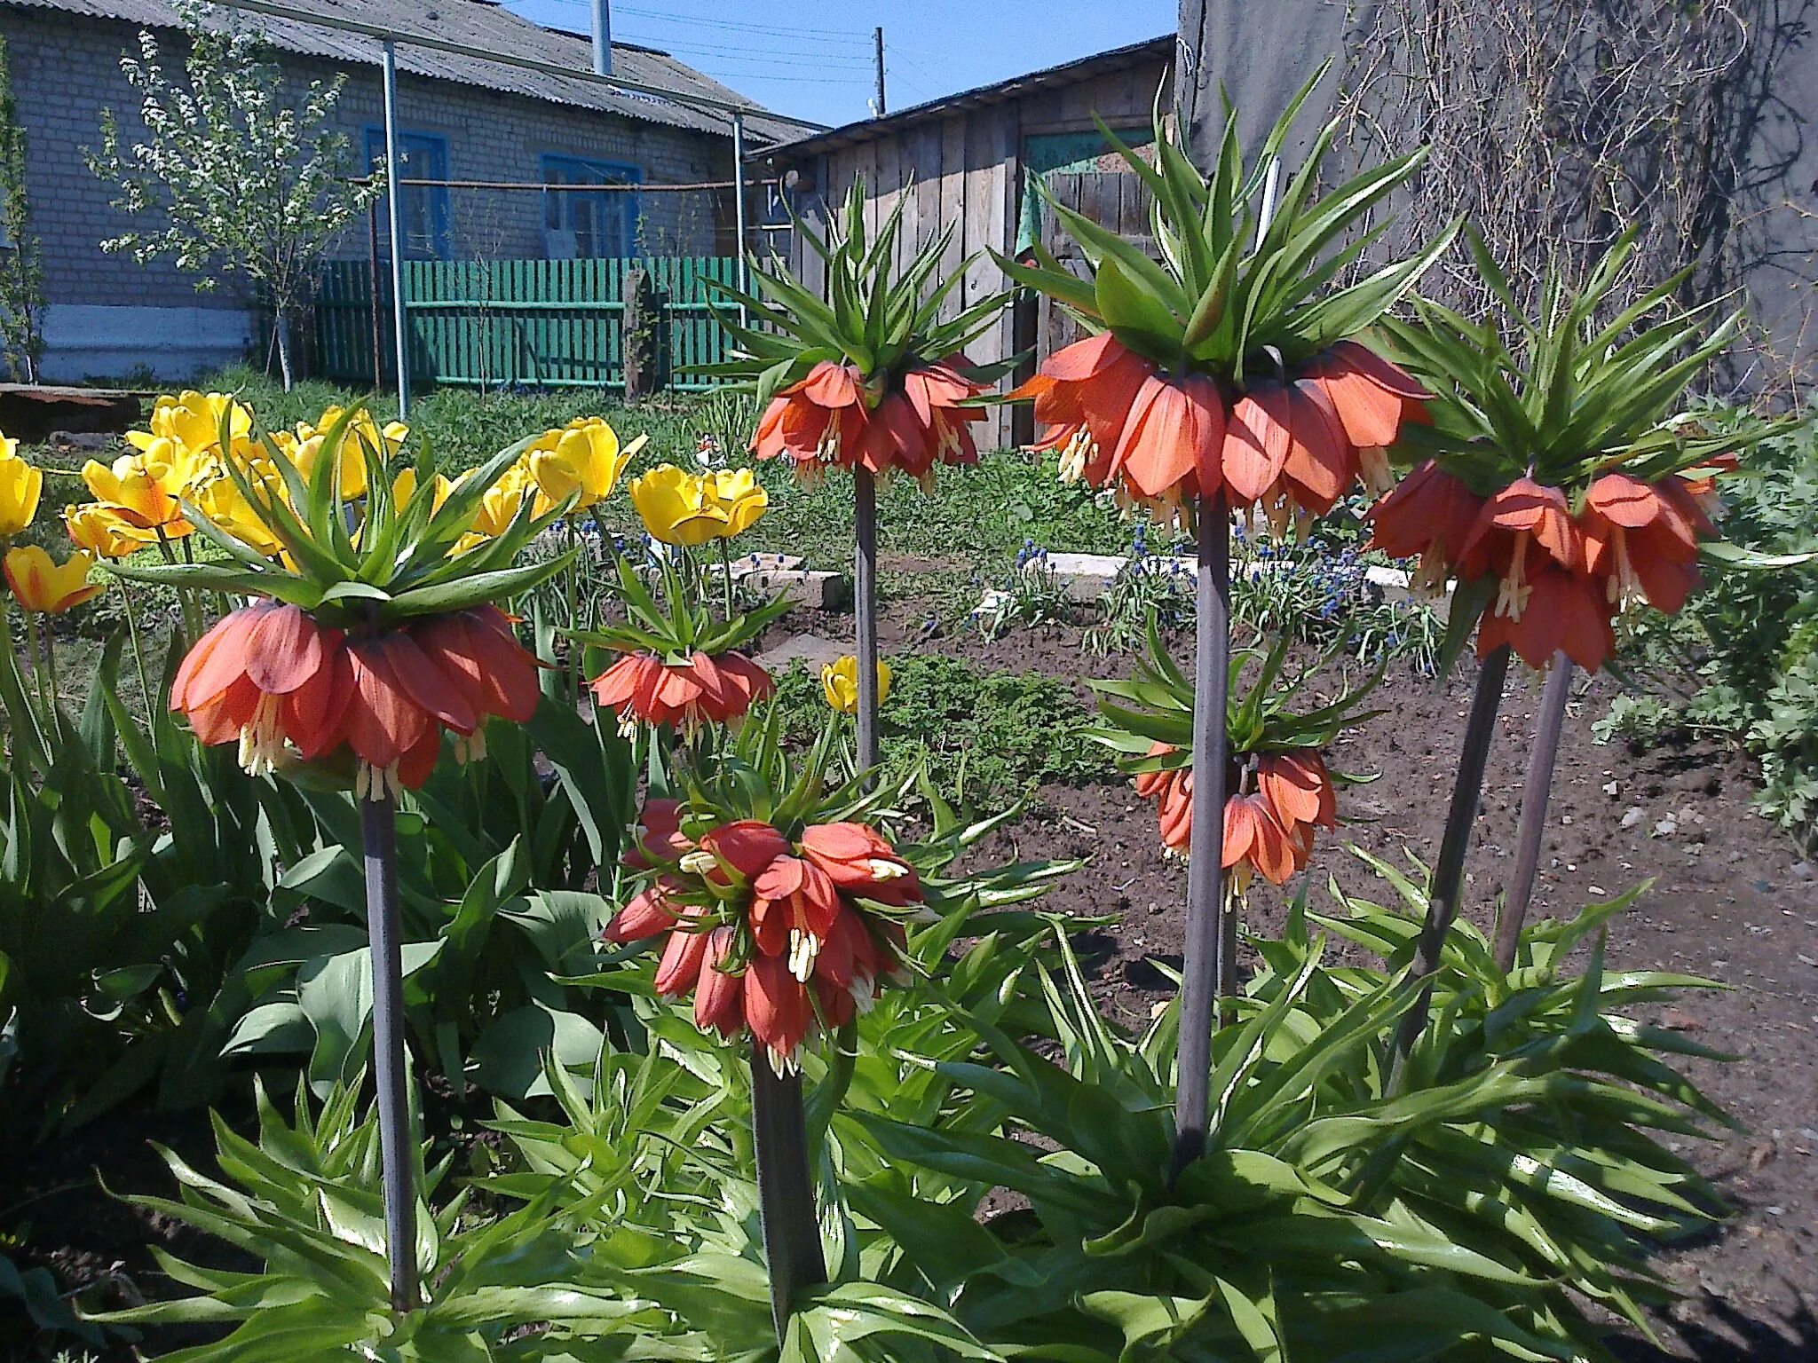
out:
{"label": "dark upright stem of the leftmost orange crown imperial", "polygon": [[373,1067],[378,1076],[378,1152],[385,1178],[385,1254],[391,1307],[416,1308],[416,1159],[404,1078],[404,954],[398,941],[396,800],[360,800],[365,845],[365,918],[373,950]]}

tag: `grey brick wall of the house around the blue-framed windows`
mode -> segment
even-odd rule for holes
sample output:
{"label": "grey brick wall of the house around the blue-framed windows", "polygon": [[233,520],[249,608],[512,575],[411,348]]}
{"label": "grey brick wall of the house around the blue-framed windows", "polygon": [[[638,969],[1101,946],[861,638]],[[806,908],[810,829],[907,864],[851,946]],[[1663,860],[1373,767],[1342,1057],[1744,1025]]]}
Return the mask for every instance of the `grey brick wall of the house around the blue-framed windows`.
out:
{"label": "grey brick wall of the house around the blue-framed windows", "polygon": [[[169,262],[140,265],[131,254],[100,249],[133,218],[109,205],[113,191],[87,169],[84,149],[98,147],[104,109],[115,111],[125,142],[144,131],[138,100],[120,73],[120,55],[138,51],[135,25],[0,5],[0,35],[25,129],[33,231],[44,251],[45,378],[120,376],[145,365],[162,380],[182,380],[244,356],[253,318],[235,280],[198,293],[195,276]],[[180,60],[178,36],[160,38],[165,62]],[[336,75],[327,62],[278,60],[298,91]],[[447,140],[453,180],[540,182],[544,154],[633,164],[647,184],[731,178],[731,142],[724,136],[413,76],[400,80],[398,105],[407,131]],[[364,169],[364,131],[384,124],[376,67],[351,69],[336,124],[347,133],[355,169]],[[662,254],[729,249],[724,200],[711,191],[638,194],[642,245]],[[544,196],[451,189],[449,229],[456,258],[542,256]],[[385,253],[384,213],[380,236]],[[364,224],[347,233],[336,254],[365,258]]]}

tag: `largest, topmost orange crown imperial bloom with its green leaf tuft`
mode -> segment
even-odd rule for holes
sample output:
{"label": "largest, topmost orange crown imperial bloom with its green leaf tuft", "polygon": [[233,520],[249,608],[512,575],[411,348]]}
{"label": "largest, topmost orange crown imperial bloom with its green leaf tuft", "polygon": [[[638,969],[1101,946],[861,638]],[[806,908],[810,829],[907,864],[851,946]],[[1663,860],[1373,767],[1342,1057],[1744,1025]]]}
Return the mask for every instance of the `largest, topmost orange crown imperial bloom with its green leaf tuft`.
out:
{"label": "largest, topmost orange crown imperial bloom with its green leaf tuft", "polygon": [[[1311,89],[1311,85],[1307,87]],[[1262,151],[1267,164],[1307,89]],[[1245,174],[1234,118],[1209,176],[1154,124],[1154,165],[1100,125],[1154,193],[1162,260],[1062,204],[1054,213],[1094,264],[1087,280],[1042,247],[1002,269],[1087,320],[1096,334],[1051,354],[1011,393],[1034,400],[1038,449],[1065,480],[1109,487],[1164,520],[1200,498],[1260,507],[1271,522],[1333,509],[1362,476],[1387,485],[1385,449],[1425,422],[1427,389],[1354,338],[1407,293],[1451,242],[1347,289],[1327,291],[1322,247],[1407,180],[1420,153],[1311,198],[1334,127],[1262,222],[1262,174]]]}

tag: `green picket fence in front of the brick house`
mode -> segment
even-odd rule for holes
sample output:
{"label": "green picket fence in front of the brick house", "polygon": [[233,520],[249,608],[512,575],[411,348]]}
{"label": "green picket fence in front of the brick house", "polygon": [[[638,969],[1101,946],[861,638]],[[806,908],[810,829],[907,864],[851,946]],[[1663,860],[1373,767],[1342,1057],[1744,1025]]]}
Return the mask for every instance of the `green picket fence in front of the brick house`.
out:
{"label": "green picket fence in front of the brick house", "polygon": [[[613,387],[622,358],[625,273],[651,276],[658,302],[662,385],[702,391],[693,365],[725,358],[725,311],[711,282],[733,284],[733,256],[631,260],[407,260],[404,314],[413,387]],[[395,383],[391,274],[380,271],[378,369],[373,365],[373,276],[364,260],[322,271],[315,373],[342,383]]]}

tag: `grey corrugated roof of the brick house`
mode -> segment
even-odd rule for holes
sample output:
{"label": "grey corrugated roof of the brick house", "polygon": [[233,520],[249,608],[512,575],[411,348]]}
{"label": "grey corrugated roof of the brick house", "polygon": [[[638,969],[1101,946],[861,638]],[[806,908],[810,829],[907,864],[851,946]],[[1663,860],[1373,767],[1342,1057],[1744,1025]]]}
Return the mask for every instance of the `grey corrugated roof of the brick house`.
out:
{"label": "grey corrugated roof of the brick house", "polygon": [[[20,9],[53,9],[64,15],[113,18],[140,27],[178,29],[176,11],[164,0],[0,0]],[[491,53],[511,53],[591,73],[591,40],[533,24],[491,0],[285,0],[291,9],[336,16],[391,29],[398,36],[398,69],[413,76],[451,80],[460,85],[551,100],[576,109],[598,109],[649,124],[725,133],[724,116],[654,95],[613,89],[593,80],[567,80],[504,62],[458,56],[409,45],[411,33]],[[225,13],[225,11],[216,11]],[[304,20],[240,15],[249,27],[264,33],[273,47],[318,56],[329,62],[378,65],[384,44],[358,33],[325,29]],[[725,100],[751,109],[745,133],[758,140],[780,142],[798,136],[802,124],[769,113],[738,91],[722,85],[667,53],[629,44],[613,44],[613,75],[644,85],[671,89],[680,96]]]}

